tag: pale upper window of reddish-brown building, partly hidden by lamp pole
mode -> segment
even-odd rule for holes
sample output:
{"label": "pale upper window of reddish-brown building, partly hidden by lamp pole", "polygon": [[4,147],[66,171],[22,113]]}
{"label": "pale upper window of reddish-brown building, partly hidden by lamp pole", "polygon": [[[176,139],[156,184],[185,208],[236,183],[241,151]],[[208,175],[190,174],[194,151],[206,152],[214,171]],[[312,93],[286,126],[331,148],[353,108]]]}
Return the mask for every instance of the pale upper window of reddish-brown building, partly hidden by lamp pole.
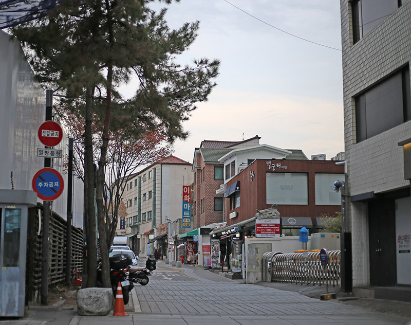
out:
{"label": "pale upper window of reddish-brown building, partly hidden by lamp pole", "polygon": [[334,182],[344,180],[344,174],[315,174],[315,205],[341,205],[341,193],[334,191]]}

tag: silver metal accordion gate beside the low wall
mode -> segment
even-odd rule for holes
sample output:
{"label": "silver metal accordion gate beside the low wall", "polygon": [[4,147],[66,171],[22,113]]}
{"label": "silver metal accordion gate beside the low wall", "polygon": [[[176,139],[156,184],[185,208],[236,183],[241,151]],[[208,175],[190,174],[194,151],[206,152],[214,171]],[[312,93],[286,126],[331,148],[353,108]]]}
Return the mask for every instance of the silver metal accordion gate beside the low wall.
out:
{"label": "silver metal accordion gate beside the low wall", "polygon": [[[306,254],[306,257],[304,256]],[[322,265],[320,252],[298,252],[283,254],[282,252],[266,252],[263,255],[261,279],[267,282],[291,282],[307,284],[339,285],[340,250],[328,252],[328,262]],[[272,267],[271,267],[272,266]]]}

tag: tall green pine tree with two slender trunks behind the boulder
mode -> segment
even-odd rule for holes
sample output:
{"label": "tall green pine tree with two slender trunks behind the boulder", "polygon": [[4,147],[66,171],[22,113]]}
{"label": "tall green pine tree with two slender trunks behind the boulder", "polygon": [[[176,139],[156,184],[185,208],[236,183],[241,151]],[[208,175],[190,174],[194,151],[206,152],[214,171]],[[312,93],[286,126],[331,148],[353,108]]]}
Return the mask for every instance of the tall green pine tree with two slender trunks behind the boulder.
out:
{"label": "tall green pine tree with two slender trunks behind the boulder", "polygon": [[[110,132],[127,129],[138,135],[161,130],[169,141],[185,138],[182,121],[195,103],[206,101],[215,86],[218,60],[199,59],[180,66],[176,58],[194,42],[199,22],[172,30],[166,9],[155,12],[154,0],[62,0],[38,21],[18,25],[13,34],[24,43],[39,80],[60,89],[65,102],[82,100],[85,119],[87,286],[96,283],[96,234],[94,230],[94,164],[91,125],[101,136],[98,163],[97,211],[100,243],[104,230],[104,170]],[[169,5],[172,0],[160,0]],[[175,2],[178,2],[176,0]],[[138,80],[135,96],[126,99],[119,86]],[[103,285],[109,281],[109,244],[100,245]]]}

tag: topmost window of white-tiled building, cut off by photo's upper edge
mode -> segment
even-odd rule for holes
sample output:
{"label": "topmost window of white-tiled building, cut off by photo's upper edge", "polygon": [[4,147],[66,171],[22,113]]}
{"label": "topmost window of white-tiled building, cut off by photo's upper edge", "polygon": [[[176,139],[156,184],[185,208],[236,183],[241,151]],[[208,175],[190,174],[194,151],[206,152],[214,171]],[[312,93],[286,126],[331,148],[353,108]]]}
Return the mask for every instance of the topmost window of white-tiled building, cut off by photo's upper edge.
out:
{"label": "topmost window of white-tiled building, cut off by photo's upper edge", "polygon": [[354,44],[380,25],[406,0],[354,0],[351,1]]}

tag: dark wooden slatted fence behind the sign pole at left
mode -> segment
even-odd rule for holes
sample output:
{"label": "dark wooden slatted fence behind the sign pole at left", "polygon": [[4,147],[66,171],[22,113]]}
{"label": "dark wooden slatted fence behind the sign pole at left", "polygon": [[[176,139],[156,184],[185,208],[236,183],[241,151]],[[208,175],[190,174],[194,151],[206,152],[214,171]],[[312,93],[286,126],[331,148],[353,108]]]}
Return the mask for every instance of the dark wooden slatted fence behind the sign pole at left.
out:
{"label": "dark wooden slatted fence behind the sign pole at left", "polygon": [[[39,218],[40,213],[40,218]],[[42,274],[43,206],[29,209],[26,264],[26,304],[40,301]],[[39,222],[40,219],[40,222]],[[39,231],[40,225],[40,231]],[[49,236],[48,284],[65,284],[66,280],[66,227],[67,221],[51,212]],[[72,227],[71,279],[75,270],[83,269],[83,230]]]}

